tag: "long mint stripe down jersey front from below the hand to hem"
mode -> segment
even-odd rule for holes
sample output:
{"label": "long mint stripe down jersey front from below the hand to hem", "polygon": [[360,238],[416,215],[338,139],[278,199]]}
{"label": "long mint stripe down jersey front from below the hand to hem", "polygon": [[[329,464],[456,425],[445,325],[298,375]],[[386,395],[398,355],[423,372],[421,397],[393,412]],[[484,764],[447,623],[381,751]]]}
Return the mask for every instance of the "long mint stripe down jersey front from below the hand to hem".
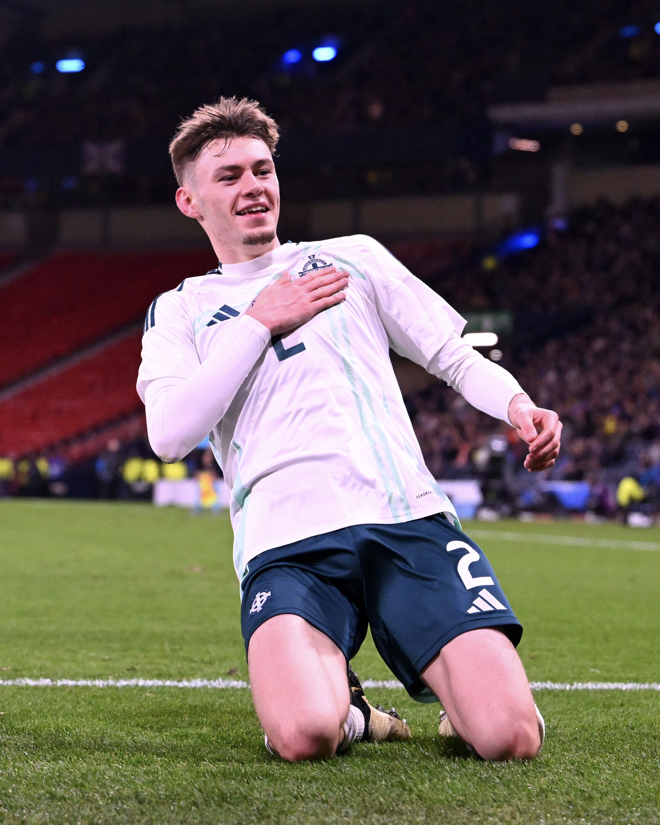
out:
{"label": "long mint stripe down jersey front from below the hand to hem", "polygon": [[392,455],[392,450],[389,449],[387,435],[378,417],[376,417],[369,387],[356,369],[344,308],[341,304],[338,304],[326,310],[326,317],[337,350],[342,356],[348,383],[351,384],[357,412],[360,415],[362,431],[365,433],[366,440],[378,466],[380,478],[383,480],[389,510],[394,521],[410,521],[413,518],[413,512],[410,509],[410,502],[403,488],[403,481],[398,473],[394,455]]}

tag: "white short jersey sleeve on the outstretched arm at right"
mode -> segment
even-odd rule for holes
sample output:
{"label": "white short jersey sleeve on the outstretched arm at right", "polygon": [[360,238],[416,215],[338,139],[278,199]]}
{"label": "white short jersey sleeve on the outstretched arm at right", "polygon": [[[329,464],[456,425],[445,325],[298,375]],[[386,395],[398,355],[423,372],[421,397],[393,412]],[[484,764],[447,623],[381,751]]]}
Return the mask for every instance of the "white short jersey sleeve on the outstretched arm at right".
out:
{"label": "white short jersey sleeve on the outstretched arm at right", "polygon": [[364,248],[365,275],[374,288],[389,346],[427,370],[449,338],[463,331],[465,319],[380,243],[365,235],[358,237]]}

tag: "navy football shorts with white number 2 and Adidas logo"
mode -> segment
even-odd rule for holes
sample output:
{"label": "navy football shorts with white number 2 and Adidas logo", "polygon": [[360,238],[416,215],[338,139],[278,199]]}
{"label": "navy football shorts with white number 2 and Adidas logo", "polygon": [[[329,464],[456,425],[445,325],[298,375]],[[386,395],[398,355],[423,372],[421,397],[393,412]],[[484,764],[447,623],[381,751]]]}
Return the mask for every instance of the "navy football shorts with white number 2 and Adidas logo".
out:
{"label": "navy football shorts with white number 2 and Adidas logo", "polygon": [[419,674],[451,639],[497,627],[514,645],[522,627],[488,559],[444,516],[361,524],[266,550],[243,577],[245,649],[272,616],[293,613],[347,660],[370,626],[378,652],[413,699],[436,701]]}

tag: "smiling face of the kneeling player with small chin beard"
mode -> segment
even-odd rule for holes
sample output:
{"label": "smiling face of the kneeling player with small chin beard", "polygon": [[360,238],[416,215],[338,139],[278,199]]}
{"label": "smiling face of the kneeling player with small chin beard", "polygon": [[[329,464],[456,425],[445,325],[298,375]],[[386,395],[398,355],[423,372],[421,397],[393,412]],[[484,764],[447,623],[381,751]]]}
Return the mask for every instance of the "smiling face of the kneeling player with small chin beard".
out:
{"label": "smiling face of the kneeling player with small chin beard", "polygon": [[177,206],[197,219],[219,261],[250,261],[280,246],[280,184],[266,144],[215,140],[200,152],[177,191]]}

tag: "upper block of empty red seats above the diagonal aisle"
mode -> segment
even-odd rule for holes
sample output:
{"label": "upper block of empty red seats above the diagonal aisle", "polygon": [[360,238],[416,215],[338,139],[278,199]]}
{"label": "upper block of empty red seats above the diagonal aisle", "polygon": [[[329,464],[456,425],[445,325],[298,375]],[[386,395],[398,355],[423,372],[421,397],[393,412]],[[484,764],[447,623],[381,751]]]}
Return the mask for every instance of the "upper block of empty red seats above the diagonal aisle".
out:
{"label": "upper block of empty red seats above the diagonal aisle", "polygon": [[144,318],[149,303],[215,266],[213,252],[59,252],[0,286],[0,388]]}

